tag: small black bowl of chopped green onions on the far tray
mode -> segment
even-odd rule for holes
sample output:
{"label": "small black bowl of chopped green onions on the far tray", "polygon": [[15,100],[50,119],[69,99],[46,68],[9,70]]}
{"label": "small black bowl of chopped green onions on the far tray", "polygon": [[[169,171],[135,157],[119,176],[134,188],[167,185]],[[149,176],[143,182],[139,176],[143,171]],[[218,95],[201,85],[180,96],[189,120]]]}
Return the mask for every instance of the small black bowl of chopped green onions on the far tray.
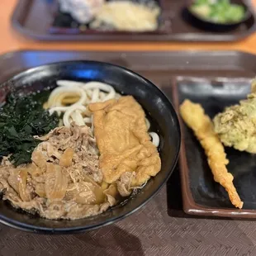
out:
{"label": "small black bowl of chopped green onions on the far tray", "polygon": [[252,17],[252,12],[250,12],[249,7],[244,4],[241,0],[231,0],[231,3],[236,3],[244,7],[245,14],[244,18],[241,21],[235,22],[226,22],[226,23],[218,23],[216,21],[211,21],[210,19],[201,17],[196,12],[192,12],[190,9],[192,3],[190,2],[187,7],[183,10],[183,17],[190,22],[193,26],[197,26],[206,31],[232,31],[235,30],[238,26],[243,24],[245,21],[248,21],[250,17]]}

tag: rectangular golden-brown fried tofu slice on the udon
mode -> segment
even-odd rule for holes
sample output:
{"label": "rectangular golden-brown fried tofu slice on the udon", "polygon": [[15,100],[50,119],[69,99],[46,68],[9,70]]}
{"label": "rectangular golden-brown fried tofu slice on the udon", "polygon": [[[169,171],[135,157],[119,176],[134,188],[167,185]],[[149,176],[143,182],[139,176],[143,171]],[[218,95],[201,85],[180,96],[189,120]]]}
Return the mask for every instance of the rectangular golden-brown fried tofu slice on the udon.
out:
{"label": "rectangular golden-brown fried tofu slice on the udon", "polygon": [[94,135],[100,151],[104,181],[114,183],[122,173],[135,173],[131,186],[141,186],[161,169],[158,150],[150,141],[145,111],[134,97],[92,103]]}

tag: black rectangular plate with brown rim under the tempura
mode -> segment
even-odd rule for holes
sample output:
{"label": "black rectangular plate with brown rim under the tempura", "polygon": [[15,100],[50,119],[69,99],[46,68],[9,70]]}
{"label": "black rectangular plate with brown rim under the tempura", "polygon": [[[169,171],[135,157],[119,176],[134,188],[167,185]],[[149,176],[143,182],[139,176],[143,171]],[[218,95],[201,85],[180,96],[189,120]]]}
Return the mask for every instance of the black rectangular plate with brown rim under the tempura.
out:
{"label": "black rectangular plate with brown rim under the tempura", "polygon": [[[178,78],[178,104],[180,105],[185,99],[190,99],[192,102],[200,103],[206,114],[213,118],[225,107],[246,98],[250,92],[250,82],[248,78]],[[239,211],[231,205],[225,189],[214,181],[204,150],[193,135],[192,130],[183,121],[182,126],[188,185],[196,208],[187,209],[187,211],[193,213],[193,211],[197,211],[197,206],[208,208],[208,210],[211,208],[212,212],[214,212],[214,208],[219,209],[219,211],[225,209],[225,214],[229,214],[228,211],[230,210],[231,215],[233,211],[243,215],[246,210],[255,210],[256,155],[240,152],[233,148],[225,148],[227,158],[230,160],[227,168],[233,174],[234,185],[241,200],[244,201],[244,207]],[[184,163],[181,165],[184,168]],[[253,213],[251,212],[251,214]],[[254,214],[256,216],[256,211]]]}

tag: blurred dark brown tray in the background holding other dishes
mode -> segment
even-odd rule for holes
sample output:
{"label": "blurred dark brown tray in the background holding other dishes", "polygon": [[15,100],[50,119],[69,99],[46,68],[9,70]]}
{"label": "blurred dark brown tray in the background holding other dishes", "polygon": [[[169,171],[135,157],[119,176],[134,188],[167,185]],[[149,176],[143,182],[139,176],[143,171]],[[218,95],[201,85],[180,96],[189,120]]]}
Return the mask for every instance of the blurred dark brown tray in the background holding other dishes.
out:
{"label": "blurred dark brown tray in the background holding other dishes", "polygon": [[[12,15],[12,26],[26,36],[36,40],[154,40],[154,41],[235,41],[241,40],[256,31],[256,18],[248,21],[233,31],[203,31],[191,22],[183,8],[187,1],[161,0],[161,19],[164,29],[149,33],[79,31],[53,26],[56,15],[55,0],[21,0]],[[249,7],[254,13],[254,8]],[[40,22],[38,22],[40,20]]]}

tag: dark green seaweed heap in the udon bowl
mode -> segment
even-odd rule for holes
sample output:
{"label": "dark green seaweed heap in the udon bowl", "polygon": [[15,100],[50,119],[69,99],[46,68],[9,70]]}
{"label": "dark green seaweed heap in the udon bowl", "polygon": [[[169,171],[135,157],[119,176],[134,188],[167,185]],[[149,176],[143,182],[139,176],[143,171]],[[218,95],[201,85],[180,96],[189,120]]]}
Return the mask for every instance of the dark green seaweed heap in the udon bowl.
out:
{"label": "dark green seaweed heap in the udon bowl", "polygon": [[0,110],[0,157],[9,156],[15,166],[31,162],[31,154],[40,140],[58,126],[59,117],[49,114],[38,100],[39,94],[27,96],[10,93]]}

